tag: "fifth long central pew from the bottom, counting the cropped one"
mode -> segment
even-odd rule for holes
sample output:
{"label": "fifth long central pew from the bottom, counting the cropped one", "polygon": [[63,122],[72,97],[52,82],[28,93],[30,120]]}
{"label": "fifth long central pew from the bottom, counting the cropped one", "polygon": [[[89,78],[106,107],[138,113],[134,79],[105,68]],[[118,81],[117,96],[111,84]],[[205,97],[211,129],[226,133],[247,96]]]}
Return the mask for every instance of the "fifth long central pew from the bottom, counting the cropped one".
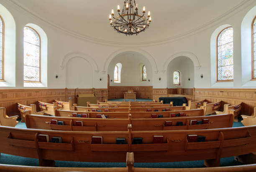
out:
{"label": "fifth long central pew from the bottom, counting the cropped one", "polygon": [[[172,107],[132,107],[131,112],[148,112],[151,110],[154,112],[154,110],[158,110],[159,112],[162,110],[185,110],[184,106],[172,106]],[[104,110],[108,110],[109,112],[129,112],[129,107],[81,107],[76,106],[75,110],[77,111],[87,111],[92,112],[92,110],[101,110],[101,112],[104,112]]]}

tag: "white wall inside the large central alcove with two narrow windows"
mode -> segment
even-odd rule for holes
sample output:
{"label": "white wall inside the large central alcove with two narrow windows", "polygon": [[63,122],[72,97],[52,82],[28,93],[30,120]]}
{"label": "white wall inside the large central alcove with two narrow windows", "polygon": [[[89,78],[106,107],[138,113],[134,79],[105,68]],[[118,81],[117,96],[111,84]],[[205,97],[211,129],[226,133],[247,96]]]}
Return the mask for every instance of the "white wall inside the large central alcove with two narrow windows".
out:
{"label": "white wall inside the large central alcove with two narrow windows", "polygon": [[[122,64],[120,83],[114,82],[114,69],[117,63]],[[142,81],[143,65],[146,65],[146,81]],[[110,86],[152,86],[152,73],[152,67],[147,58],[136,52],[124,52],[117,55],[108,67]]]}

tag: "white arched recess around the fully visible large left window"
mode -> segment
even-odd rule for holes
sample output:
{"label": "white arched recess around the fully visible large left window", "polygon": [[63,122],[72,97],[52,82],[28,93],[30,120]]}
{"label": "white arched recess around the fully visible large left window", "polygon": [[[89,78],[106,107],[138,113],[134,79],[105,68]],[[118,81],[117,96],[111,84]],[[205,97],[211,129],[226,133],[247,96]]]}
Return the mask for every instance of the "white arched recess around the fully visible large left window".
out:
{"label": "white arched recess around the fully visible large left window", "polygon": [[[40,50],[40,57],[41,57],[41,83],[34,83],[34,82],[24,82],[24,87],[47,87],[48,84],[48,38],[44,30],[35,25],[33,23],[28,23],[25,26],[32,27],[38,35],[40,36],[41,40],[41,50]],[[25,27],[24,26],[24,27]]]}

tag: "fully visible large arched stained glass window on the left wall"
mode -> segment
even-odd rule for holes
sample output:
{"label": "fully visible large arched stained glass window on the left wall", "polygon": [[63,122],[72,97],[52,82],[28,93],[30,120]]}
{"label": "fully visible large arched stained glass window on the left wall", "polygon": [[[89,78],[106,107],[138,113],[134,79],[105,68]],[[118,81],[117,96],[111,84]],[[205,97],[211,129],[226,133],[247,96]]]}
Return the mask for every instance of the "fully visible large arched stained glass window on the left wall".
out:
{"label": "fully visible large arched stained glass window on the left wall", "polygon": [[24,81],[41,82],[40,36],[31,27],[24,27]]}

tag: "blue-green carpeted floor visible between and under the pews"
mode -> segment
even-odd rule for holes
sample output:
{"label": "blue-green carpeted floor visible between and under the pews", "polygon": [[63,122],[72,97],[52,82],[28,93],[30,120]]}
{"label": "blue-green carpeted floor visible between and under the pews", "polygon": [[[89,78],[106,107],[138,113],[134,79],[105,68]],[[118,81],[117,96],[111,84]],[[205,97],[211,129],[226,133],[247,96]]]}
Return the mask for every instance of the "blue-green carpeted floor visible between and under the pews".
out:
{"label": "blue-green carpeted floor visible between and under the pews", "polygon": [[[139,99],[138,101],[146,101],[147,99]],[[114,101],[114,100],[113,100]],[[121,101],[120,99],[115,99],[115,101]],[[131,100],[132,101],[132,100]],[[133,100],[134,101],[134,100]],[[151,100],[148,100],[151,101]],[[234,122],[233,127],[242,127],[243,124],[239,122]],[[17,124],[18,128],[26,128],[25,123],[19,122]],[[18,157],[14,155],[1,154],[0,164],[9,165],[28,165],[28,166],[38,166],[38,159]],[[220,166],[235,166],[243,165],[240,162],[234,160],[234,157],[222,158],[220,161]],[[102,163],[102,162],[68,162],[68,161],[56,161],[57,167],[126,167],[125,163]],[[186,161],[186,162],[157,162],[157,163],[135,163],[134,167],[143,168],[197,168],[205,167],[204,161]]]}

